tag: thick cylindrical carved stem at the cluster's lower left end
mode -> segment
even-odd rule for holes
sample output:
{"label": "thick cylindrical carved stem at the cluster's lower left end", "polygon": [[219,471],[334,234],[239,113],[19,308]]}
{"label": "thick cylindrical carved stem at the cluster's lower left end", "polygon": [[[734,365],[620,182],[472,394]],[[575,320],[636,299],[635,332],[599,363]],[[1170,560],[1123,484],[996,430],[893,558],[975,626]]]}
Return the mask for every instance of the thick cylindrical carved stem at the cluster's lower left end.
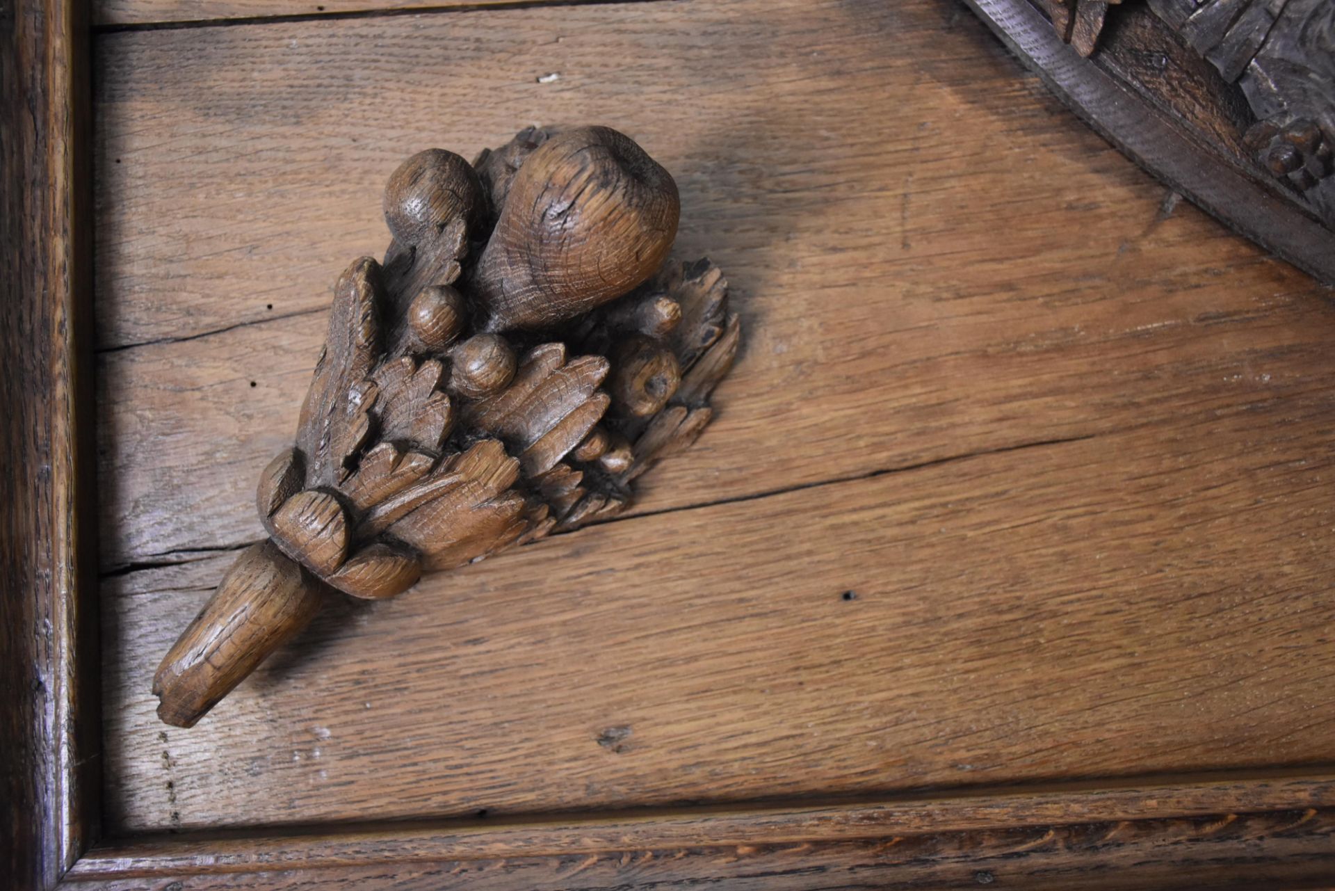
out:
{"label": "thick cylindrical carved stem at the cluster's lower left end", "polygon": [[323,601],[322,582],[274,542],[243,550],[158,667],[158,717],[175,727],[194,727],[302,631]]}

